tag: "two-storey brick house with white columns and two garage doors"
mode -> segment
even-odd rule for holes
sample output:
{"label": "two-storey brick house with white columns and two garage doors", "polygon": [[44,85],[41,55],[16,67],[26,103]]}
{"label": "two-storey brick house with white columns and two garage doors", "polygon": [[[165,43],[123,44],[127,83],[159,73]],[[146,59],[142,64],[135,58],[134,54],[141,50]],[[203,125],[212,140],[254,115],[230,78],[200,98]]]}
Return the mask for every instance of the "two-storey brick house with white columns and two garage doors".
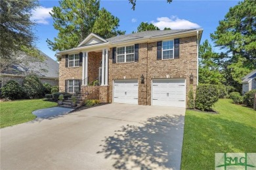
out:
{"label": "two-storey brick house with white columns and two garage doors", "polygon": [[[198,84],[202,29],[163,30],[103,39],[95,33],[57,53],[60,91],[101,102],[186,107]],[[88,86],[95,80],[100,86]]]}

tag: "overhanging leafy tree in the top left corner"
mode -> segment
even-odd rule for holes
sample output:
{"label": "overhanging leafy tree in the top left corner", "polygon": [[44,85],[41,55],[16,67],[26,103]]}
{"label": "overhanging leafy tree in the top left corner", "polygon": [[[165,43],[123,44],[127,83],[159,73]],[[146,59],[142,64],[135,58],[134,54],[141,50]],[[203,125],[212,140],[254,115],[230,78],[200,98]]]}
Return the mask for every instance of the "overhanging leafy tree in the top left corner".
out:
{"label": "overhanging leafy tree in the top left corner", "polygon": [[[0,57],[10,59],[19,51],[37,54],[35,22],[30,20],[32,10],[39,6],[37,0],[4,0],[0,2]],[[9,62],[9,60],[6,60]]]}

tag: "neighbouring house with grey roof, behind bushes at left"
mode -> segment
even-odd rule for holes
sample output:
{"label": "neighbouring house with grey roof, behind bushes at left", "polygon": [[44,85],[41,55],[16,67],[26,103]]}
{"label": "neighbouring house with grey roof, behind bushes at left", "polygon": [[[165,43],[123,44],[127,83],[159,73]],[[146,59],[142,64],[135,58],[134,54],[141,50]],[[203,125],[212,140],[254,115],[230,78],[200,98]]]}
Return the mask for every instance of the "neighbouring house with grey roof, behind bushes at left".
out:
{"label": "neighbouring house with grey roof, behind bushes at left", "polygon": [[42,83],[58,85],[58,62],[41,52],[45,56],[43,61],[27,56],[24,53],[18,54],[18,64],[11,64],[7,69],[0,72],[0,88],[8,81],[14,80],[22,85],[24,77],[28,74],[36,74]]}

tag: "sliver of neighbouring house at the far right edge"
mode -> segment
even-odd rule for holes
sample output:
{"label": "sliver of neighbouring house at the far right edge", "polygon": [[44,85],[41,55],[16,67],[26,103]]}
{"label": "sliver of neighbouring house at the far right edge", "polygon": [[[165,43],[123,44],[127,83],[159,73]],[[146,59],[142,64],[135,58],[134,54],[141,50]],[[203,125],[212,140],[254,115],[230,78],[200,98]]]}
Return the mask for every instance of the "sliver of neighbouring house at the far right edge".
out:
{"label": "sliver of neighbouring house at the far right edge", "polygon": [[242,77],[242,93],[256,89],[256,70]]}

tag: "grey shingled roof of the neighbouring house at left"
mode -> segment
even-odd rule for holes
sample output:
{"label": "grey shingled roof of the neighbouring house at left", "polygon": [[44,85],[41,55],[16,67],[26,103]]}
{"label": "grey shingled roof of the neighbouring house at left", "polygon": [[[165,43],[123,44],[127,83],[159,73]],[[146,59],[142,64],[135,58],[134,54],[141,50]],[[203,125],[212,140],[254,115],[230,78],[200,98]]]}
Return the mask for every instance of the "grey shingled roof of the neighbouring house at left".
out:
{"label": "grey shingled roof of the neighbouring house at left", "polygon": [[43,61],[24,53],[19,53],[19,60],[24,60],[24,62],[12,64],[8,69],[3,70],[0,74],[28,75],[33,73],[39,77],[58,78],[58,62],[47,56],[47,54],[41,51],[40,53],[45,57]]}

